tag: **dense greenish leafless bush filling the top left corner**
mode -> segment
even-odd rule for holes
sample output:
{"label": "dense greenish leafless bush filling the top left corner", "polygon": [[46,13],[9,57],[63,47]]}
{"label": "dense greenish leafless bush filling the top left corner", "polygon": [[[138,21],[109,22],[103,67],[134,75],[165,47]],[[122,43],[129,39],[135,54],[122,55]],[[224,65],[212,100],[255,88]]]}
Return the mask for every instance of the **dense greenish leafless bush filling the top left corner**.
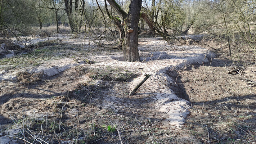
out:
{"label": "dense greenish leafless bush filling the top left corner", "polygon": [[32,32],[36,18],[31,0],[0,0],[0,7],[0,36]]}

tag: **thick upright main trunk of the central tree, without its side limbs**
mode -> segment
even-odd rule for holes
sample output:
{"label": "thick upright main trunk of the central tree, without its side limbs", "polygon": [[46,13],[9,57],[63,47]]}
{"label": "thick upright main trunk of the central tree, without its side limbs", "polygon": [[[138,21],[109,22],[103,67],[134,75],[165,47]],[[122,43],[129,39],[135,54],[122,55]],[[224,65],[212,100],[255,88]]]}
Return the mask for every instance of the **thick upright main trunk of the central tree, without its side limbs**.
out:
{"label": "thick upright main trunk of the central tree, without its side limbs", "polygon": [[[142,0],[131,0],[129,6],[129,13],[127,18],[125,18],[125,38],[123,41],[123,56],[128,62],[135,62],[139,60],[138,51],[138,26],[140,20],[140,9],[142,5]],[[133,29],[132,32],[127,32],[127,30]]]}

